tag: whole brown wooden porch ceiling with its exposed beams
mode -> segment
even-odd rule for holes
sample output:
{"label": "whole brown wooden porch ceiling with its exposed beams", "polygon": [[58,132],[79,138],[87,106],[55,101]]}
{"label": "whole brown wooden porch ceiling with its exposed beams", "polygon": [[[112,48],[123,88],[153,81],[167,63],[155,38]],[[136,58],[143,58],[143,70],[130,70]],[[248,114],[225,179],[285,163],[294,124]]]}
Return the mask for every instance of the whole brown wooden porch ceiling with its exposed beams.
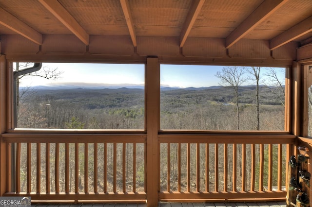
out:
{"label": "whole brown wooden porch ceiling with its exposed beams", "polygon": [[[115,43],[112,54],[117,55],[131,54],[125,47],[137,52],[140,44],[154,39],[162,40],[156,47],[162,45],[169,56],[170,50],[181,53],[186,43],[201,39],[220,42],[224,51],[239,42],[265,41],[274,51],[290,42],[296,47],[312,42],[312,0],[0,0],[1,53],[14,53],[6,43],[13,36],[41,52],[51,39],[60,38],[75,39],[69,41],[95,53],[100,49],[92,42]],[[162,53],[148,50],[138,53]]]}

